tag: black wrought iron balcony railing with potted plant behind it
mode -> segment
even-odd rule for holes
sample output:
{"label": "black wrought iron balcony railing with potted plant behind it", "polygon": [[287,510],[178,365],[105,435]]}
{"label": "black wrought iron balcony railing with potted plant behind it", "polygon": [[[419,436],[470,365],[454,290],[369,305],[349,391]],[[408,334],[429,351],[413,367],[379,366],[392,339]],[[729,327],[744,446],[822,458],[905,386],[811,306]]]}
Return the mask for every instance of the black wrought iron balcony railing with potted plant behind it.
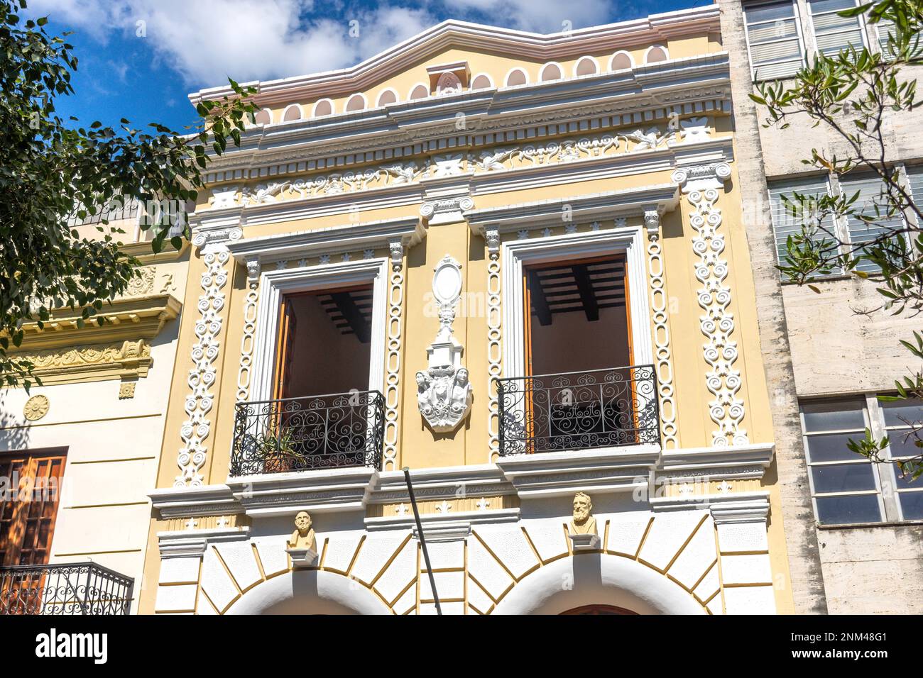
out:
{"label": "black wrought iron balcony railing with potted plant behind it", "polygon": [[239,402],[231,475],[381,466],[385,398],[378,391]]}

